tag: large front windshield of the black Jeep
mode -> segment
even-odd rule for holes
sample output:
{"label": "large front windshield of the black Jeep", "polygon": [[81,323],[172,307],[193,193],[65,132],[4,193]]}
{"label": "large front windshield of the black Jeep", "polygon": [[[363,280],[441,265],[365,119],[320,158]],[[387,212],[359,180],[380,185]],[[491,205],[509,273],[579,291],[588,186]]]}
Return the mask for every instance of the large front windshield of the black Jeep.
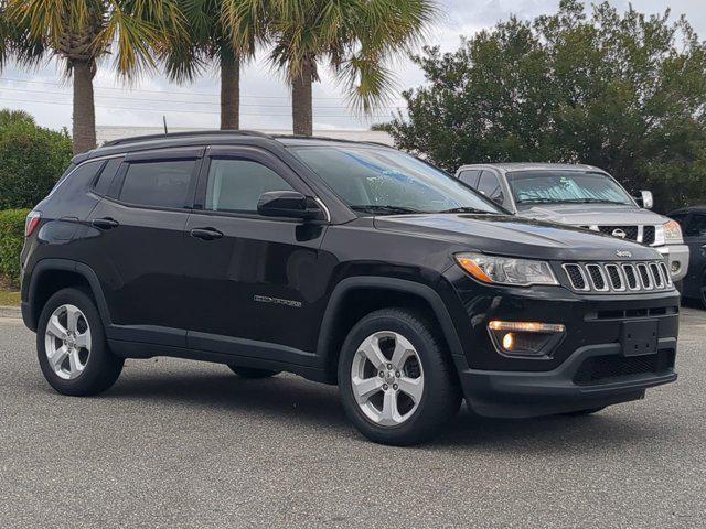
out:
{"label": "large front windshield of the black Jeep", "polygon": [[328,144],[291,150],[362,214],[501,213],[460,181],[394,149]]}

